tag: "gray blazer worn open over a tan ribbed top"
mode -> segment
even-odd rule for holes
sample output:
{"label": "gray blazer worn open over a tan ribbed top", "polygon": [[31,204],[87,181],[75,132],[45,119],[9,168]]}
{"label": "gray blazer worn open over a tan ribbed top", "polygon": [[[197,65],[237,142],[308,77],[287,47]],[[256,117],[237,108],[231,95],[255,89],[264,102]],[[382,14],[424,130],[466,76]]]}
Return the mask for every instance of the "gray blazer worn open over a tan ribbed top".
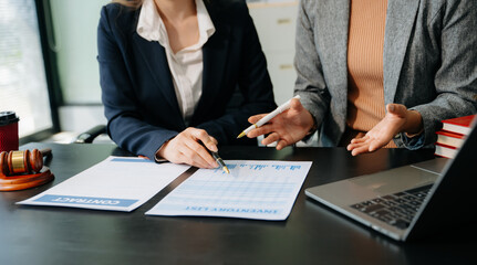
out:
{"label": "gray blazer worn open over a tan ribbed top", "polygon": [[[424,134],[398,147],[435,142],[442,119],[477,109],[477,1],[388,0],[384,36],[384,102],[423,116]],[[301,0],[294,93],[317,119],[319,145],[340,141],[348,105],[349,0]]]}

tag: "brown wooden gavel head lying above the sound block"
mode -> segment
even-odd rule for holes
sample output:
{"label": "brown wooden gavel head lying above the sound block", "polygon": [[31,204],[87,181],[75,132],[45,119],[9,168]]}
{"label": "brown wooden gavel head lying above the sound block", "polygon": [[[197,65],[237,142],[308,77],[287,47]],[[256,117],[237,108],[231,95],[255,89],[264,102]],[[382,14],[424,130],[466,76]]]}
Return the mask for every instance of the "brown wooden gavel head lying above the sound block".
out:
{"label": "brown wooden gavel head lying above the sound block", "polygon": [[38,149],[0,153],[0,173],[3,176],[38,173],[42,168],[43,155]]}

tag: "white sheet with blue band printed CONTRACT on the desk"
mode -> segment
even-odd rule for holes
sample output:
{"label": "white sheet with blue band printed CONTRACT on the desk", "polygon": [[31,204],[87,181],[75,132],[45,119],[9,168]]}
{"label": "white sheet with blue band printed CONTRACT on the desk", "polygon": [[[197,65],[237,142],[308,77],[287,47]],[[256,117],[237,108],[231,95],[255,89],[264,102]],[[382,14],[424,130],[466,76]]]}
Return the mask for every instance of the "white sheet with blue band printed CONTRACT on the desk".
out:
{"label": "white sheet with blue band printed CONTRACT on the desk", "polygon": [[18,204],[131,212],[188,168],[184,165],[159,165],[143,158],[108,157]]}

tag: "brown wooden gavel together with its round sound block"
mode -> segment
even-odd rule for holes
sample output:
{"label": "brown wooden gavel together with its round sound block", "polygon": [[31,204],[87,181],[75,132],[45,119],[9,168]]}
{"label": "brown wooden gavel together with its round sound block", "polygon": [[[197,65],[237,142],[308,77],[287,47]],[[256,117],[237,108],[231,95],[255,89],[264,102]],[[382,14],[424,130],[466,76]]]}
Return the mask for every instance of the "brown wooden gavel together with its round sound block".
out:
{"label": "brown wooden gavel together with its round sound block", "polygon": [[44,184],[54,179],[43,166],[43,153],[38,149],[0,152],[0,191],[15,191]]}

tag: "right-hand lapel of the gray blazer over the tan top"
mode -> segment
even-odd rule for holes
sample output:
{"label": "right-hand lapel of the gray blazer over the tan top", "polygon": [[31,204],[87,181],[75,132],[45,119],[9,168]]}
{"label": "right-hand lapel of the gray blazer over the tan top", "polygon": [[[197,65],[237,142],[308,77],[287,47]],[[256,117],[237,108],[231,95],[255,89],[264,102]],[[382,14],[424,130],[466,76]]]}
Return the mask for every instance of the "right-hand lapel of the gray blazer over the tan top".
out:
{"label": "right-hand lapel of the gray blazer over the tan top", "polygon": [[409,42],[419,0],[388,0],[384,36],[384,103],[394,102],[400,73],[403,67],[407,43]]}

